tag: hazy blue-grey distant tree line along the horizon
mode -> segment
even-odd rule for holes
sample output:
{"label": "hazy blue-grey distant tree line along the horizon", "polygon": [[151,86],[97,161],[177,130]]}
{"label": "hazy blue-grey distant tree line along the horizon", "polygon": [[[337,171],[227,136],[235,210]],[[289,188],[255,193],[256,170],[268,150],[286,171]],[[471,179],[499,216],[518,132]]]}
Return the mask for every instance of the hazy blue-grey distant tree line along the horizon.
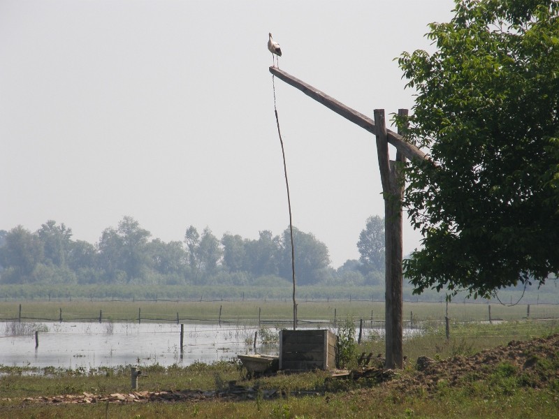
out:
{"label": "hazy blue-grey distant tree line along the horizon", "polygon": [[[326,245],[294,228],[299,285],[375,285],[384,281],[384,220],[370,217],[358,241],[360,260],[334,269]],[[379,242],[380,240],[380,242]],[[380,243],[380,244],[379,244]],[[73,240],[49,220],[36,232],[0,230],[0,284],[251,285],[291,281],[289,228],[256,240],[189,226],[184,241],[152,239],[131,216],[106,228],[99,242]]]}

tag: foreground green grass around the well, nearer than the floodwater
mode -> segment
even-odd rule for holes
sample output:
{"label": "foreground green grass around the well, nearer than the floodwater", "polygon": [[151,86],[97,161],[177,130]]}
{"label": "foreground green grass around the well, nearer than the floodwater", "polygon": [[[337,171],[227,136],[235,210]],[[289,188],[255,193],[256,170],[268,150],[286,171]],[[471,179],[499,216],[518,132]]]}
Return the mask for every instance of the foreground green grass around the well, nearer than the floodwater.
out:
{"label": "foreground green grass around the well, nearer than the floodwater", "polygon": [[[530,330],[523,330],[520,323],[517,326],[511,330],[504,323],[457,323],[448,341],[443,328],[428,328],[423,335],[405,341],[404,351],[409,361],[399,372],[400,378],[414,378],[414,360],[420,355],[435,359],[471,355],[484,348],[505,345],[511,335],[515,340],[525,340],[559,332],[556,321],[535,323]],[[382,339],[375,335],[366,338],[360,351],[384,353]],[[556,376],[559,351],[555,358],[542,358],[537,348],[534,351],[535,374]],[[464,376],[454,387],[440,382],[434,392],[421,388],[407,390],[405,384],[398,387],[391,383],[331,381],[326,372],[245,380],[245,372],[234,362],[168,368],[153,365],[143,371],[148,376],[140,378],[140,390],[215,390],[234,380],[246,386],[283,390],[291,396],[275,400],[256,397],[245,402],[210,399],[87,406],[25,403],[25,397],[129,392],[129,368],[103,367],[86,372],[0,366],[0,418],[555,418],[559,411],[558,378],[542,388],[532,388],[533,376],[523,375],[518,367],[507,362],[495,365],[485,381]],[[291,393],[304,390],[318,390],[319,394],[296,397]]]}

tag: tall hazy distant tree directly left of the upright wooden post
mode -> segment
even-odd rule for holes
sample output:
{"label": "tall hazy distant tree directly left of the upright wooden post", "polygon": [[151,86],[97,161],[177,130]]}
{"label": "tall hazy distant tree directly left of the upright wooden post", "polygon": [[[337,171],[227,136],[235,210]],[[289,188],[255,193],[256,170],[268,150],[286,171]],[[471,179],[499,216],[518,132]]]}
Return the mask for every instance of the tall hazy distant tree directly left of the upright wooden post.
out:
{"label": "tall hazy distant tree directly left of the upright wooden post", "polygon": [[375,215],[367,219],[365,228],[359,234],[357,249],[365,273],[384,271],[384,218]]}

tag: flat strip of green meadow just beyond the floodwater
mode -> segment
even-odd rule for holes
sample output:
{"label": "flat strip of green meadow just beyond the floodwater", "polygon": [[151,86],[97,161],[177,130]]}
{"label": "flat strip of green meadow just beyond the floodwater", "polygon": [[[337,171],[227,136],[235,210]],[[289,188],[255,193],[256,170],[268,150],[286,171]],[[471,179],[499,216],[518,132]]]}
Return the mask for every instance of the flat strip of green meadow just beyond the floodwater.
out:
{"label": "flat strip of green meadow just beyond the floodwater", "polygon": [[[221,309],[222,322],[233,324],[289,322],[293,319],[293,304],[290,301],[278,300],[245,300],[245,301],[213,301],[213,302],[168,302],[168,301],[57,301],[57,302],[0,302],[0,321],[17,320],[19,307],[22,307],[24,320],[49,319],[57,321],[62,311],[63,321],[97,321],[100,311],[102,321],[138,321],[141,311],[143,321],[176,321],[179,314],[182,323],[192,320],[215,322],[219,320]],[[489,320],[488,304],[449,304],[449,318],[453,322],[474,322]],[[446,304],[439,302],[405,302],[403,319],[405,326],[412,325],[433,327],[444,321]],[[526,304],[504,306],[491,304],[491,318],[494,321],[522,321],[527,318]],[[365,326],[383,326],[384,302],[368,301],[301,301],[298,303],[300,321],[332,322],[352,318],[358,321],[363,318]],[[536,323],[542,318],[559,318],[558,304],[531,304],[529,320]]]}

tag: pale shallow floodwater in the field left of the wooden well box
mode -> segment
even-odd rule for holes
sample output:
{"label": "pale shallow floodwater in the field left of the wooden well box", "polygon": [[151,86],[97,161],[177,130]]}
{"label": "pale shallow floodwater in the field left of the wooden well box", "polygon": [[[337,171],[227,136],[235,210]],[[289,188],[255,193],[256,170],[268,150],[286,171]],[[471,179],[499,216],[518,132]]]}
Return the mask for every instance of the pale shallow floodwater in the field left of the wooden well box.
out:
{"label": "pale shallow floodwater in the field left of the wooden well box", "polygon": [[[34,330],[38,333],[35,348]],[[185,324],[183,358],[180,325],[158,323],[0,323],[0,364],[8,366],[94,368],[117,365],[189,365],[254,353],[256,327]],[[277,330],[270,329],[277,334]],[[277,344],[257,344],[259,353],[277,355]]]}

